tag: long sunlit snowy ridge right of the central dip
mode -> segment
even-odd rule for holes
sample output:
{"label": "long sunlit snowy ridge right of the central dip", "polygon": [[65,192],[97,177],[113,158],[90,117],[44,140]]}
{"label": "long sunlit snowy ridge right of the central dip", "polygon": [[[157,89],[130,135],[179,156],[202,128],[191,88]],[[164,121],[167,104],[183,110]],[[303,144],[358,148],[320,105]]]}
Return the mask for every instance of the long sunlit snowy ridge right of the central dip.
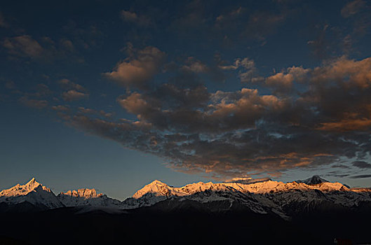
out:
{"label": "long sunlit snowy ridge right of the central dip", "polygon": [[[161,181],[153,181],[123,202],[126,209],[149,207],[166,201],[229,202],[242,205],[259,214],[275,213],[288,218],[301,211],[321,207],[358,207],[361,202],[371,203],[370,189],[347,188],[342,183],[331,183],[318,176],[304,181],[236,181],[227,183],[191,183],[175,188]],[[170,209],[170,207],[168,207]]]}

